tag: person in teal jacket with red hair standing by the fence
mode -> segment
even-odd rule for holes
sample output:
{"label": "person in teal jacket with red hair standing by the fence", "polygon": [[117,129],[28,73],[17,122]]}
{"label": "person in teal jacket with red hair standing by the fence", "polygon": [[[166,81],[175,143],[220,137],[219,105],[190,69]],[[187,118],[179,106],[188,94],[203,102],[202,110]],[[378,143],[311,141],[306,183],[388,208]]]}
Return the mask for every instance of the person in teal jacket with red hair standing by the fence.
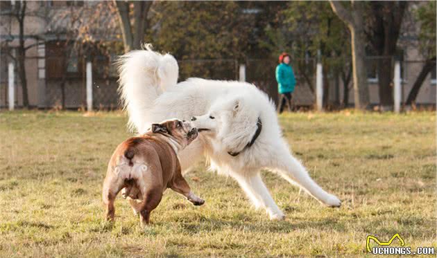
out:
{"label": "person in teal jacket with red hair standing by the fence", "polygon": [[291,111],[291,94],[294,91],[296,80],[293,73],[293,68],[290,66],[290,55],[282,53],[279,57],[279,62],[276,66],[276,81],[277,91],[280,93],[280,101],[278,102],[277,111],[282,113],[284,105],[287,104]]}

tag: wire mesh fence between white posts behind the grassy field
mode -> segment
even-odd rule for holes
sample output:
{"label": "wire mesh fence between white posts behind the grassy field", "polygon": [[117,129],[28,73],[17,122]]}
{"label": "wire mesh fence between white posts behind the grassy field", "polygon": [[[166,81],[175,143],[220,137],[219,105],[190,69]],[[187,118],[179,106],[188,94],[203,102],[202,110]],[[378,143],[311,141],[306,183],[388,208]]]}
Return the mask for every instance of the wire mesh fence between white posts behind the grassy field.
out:
{"label": "wire mesh fence between white posts behind the grassy field", "polygon": [[[379,103],[379,87],[377,66],[381,58],[387,58],[388,71],[393,73],[393,57],[368,57],[368,84],[370,102]],[[28,95],[31,106],[38,108],[67,109],[85,108],[87,105],[87,84],[85,64],[92,62],[92,105],[94,109],[119,108],[117,93],[117,71],[111,57],[96,56],[71,57],[64,62],[59,56],[28,57],[26,59],[26,75]],[[0,58],[0,107],[8,107],[8,64],[12,59],[8,55]],[[343,104],[352,106],[353,89],[350,61],[342,59],[325,59],[329,64],[323,74],[324,104]],[[188,77],[203,77],[212,80],[239,80],[239,66],[236,59],[191,59],[181,60],[179,80]],[[292,59],[291,64],[295,72],[296,87],[293,93],[293,104],[297,106],[313,107],[316,102],[316,59]],[[425,61],[402,60],[401,64],[401,102],[404,103],[409,91],[418,77]],[[255,84],[265,91],[270,98],[277,102],[277,82],[275,80],[275,59],[247,59],[243,63],[246,68],[246,81]],[[22,107],[22,86],[17,76],[15,66],[15,107]],[[349,77],[348,80],[345,80]],[[393,74],[391,75],[393,80]],[[393,82],[391,82],[393,83]],[[436,73],[435,68],[427,76],[420,93],[418,104],[435,104],[436,102]],[[347,103],[345,103],[347,102]],[[63,105],[62,105],[63,104]]]}

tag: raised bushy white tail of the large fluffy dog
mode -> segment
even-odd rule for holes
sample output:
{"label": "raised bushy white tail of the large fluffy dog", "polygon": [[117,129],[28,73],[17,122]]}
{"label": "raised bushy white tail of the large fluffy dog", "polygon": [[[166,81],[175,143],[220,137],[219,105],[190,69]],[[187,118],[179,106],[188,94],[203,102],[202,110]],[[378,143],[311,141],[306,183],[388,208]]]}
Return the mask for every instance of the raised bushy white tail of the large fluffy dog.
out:
{"label": "raised bushy white tail of the large fluffy dog", "polygon": [[144,50],[134,50],[122,55],[117,62],[119,93],[123,109],[129,115],[130,129],[144,131],[148,110],[156,98],[178,82],[179,67],[169,54],[161,55],[144,45]]}

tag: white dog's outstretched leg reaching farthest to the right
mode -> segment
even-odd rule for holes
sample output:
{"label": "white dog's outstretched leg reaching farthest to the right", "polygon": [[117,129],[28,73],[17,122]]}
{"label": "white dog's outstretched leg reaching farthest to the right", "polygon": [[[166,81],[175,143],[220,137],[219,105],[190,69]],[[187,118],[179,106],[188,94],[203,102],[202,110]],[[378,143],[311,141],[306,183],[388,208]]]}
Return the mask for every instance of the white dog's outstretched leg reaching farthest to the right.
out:
{"label": "white dog's outstretched leg reaching farthest to the right", "polygon": [[282,153],[272,155],[272,158],[271,168],[277,170],[277,173],[286,181],[293,184],[298,183],[311,196],[329,207],[339,207],[341,205],[341,201],[336,196],[327,193],[313,181],[307,169],[289,153],[288,149],[282,149]]}

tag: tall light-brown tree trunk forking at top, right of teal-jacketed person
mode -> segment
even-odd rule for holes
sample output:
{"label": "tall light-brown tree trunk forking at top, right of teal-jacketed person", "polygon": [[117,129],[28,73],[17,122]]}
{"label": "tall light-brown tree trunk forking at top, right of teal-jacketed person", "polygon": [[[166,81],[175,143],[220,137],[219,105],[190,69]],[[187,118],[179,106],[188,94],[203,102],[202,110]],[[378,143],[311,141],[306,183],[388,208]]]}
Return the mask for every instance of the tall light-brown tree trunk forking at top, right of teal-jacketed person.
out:
{"label": "tall light-brown tree trunk forking at top, right of teal-jacketed person", "polygon": [[363,26],[364,3],[351,1],[350,8],[345,8],[339,1],[329,1],[329,3],[331,4],[332,10],[350,30],[355,108],[366,109],[370,101],[367,84],[366,43]]}

